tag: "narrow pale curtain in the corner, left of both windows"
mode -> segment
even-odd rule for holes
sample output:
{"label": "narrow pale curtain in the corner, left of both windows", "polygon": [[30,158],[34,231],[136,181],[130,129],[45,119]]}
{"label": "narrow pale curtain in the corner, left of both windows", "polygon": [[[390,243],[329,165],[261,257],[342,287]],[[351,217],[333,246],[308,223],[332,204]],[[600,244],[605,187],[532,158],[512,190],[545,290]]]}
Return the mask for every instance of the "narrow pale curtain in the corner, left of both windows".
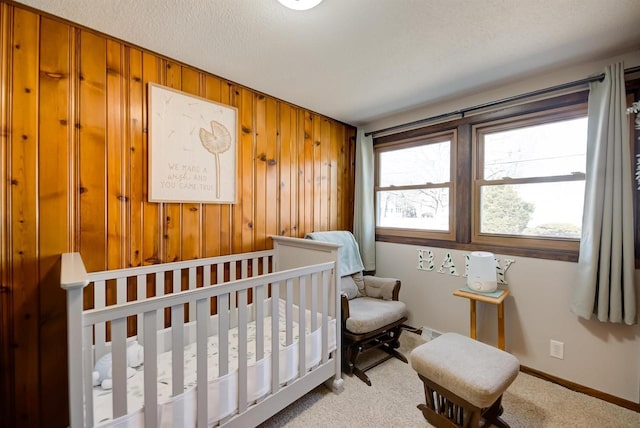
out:
{"label": "narrow pale curtain in the corner, left of both windows", "polygon": [[360,247],[365,271],[376,269],[376,215],[373,191],[373,138],[358,129],[356,134],[356,182],[353,235]]}

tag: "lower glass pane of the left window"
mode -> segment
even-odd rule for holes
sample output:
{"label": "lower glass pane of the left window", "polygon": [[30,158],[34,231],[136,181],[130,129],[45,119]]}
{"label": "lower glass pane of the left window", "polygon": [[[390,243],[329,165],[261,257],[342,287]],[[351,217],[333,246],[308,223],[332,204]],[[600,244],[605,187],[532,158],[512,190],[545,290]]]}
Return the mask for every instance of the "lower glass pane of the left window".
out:
{"label": "lower glass pane of the left window", "polygon": [[377,192],[377,225],[421,230],[449,230],[449,189]]}

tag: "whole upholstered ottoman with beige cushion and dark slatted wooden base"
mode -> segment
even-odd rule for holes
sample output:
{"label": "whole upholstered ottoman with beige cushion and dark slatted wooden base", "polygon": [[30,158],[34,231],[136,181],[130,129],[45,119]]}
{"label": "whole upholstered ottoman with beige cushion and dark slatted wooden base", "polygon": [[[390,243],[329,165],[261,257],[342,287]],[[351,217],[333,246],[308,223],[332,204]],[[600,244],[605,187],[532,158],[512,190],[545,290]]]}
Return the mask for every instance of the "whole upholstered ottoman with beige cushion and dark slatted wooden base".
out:
{"label": "whole upholstered ottoman with beige cushion and dark slatted wooden base", "polygon": [[436,427],[509,427],[502,393],[518,375],[513,355],[482,342],[445,333],[411,352],[411,367],[424,383],[426,404],[418,405]]}

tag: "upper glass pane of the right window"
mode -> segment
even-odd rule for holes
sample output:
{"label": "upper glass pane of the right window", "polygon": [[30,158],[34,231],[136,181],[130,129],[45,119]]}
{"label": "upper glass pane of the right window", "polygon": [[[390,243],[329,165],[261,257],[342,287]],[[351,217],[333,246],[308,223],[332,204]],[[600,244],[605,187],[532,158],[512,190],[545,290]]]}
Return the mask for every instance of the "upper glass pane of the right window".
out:
{"label": "upper glass pane of the right window", "polygon": [[586,117],[485,134],[484,179],[584,173],[586,148]]}

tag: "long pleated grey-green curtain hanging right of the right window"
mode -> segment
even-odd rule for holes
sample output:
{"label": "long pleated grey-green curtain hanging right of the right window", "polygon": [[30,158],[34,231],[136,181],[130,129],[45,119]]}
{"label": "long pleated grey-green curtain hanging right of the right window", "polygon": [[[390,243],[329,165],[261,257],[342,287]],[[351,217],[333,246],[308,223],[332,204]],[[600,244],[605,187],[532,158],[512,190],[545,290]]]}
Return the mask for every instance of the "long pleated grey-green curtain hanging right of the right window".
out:
{"label": "long pleated grey-green curtain hanging right of the right window", "polygon": [[571,311],[603,322],[636,323],[633,193],[624,66],[591,83],[587,169],[578,274]]}

